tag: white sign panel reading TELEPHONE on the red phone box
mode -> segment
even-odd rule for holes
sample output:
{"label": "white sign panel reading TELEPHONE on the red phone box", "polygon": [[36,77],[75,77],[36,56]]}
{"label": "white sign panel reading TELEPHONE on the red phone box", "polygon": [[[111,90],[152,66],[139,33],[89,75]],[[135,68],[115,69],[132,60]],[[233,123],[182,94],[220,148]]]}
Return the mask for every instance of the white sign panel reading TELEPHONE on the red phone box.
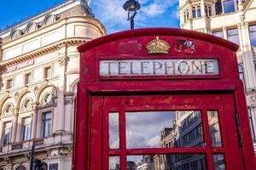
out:
{"label": "white sign panel reading TELEPHONE on the red phone box", "polygon": [[100,76],[218,75],[218,59],[116,59],[100,61]]}

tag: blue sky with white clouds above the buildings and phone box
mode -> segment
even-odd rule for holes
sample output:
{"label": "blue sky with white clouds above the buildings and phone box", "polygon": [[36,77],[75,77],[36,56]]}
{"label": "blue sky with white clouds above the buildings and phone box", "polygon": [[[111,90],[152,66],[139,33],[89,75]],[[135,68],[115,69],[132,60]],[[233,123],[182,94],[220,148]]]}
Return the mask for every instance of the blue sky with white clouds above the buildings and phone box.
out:
{"label": "blue sky with white clouds above the buildings and phone box", "polygon": [[[26,19],[63,0],[1,0],[0,28]],[[123,4],[126,0],[91,0],[90,7],[98,20],[101,20],[108,33],[130,29]],[[135,18],[135,27],[179,27],[177,16],[178,0],[137,0],[142,8]]]}

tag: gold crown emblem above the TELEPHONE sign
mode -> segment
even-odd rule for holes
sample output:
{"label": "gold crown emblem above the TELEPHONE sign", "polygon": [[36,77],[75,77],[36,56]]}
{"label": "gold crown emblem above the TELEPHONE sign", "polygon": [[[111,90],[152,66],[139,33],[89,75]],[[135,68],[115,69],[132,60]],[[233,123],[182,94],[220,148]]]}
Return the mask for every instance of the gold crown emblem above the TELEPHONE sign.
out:
{"label": "gold crown emblem above the TELEPHONE sign", "polygon": [[148,42],[146,48],[148,50],[148,54],[168,54],[170,46],[168,42],[160,40],[157,36],[153,41]]}

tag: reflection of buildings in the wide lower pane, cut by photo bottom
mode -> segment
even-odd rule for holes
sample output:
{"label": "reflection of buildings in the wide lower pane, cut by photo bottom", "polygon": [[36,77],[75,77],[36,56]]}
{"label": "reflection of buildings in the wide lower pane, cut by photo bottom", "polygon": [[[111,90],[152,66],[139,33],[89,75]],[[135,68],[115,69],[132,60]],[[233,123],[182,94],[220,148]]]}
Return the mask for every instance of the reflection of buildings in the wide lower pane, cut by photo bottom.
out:
{"label": "reflection of buildings in the wide lower pane, cut by photo bottom", "polygon": [[[128,168],[129,167],[129,168]],[[168,154],[127,156],[127,169],[154,169],[154,170],[206,170],[205,155]]]}

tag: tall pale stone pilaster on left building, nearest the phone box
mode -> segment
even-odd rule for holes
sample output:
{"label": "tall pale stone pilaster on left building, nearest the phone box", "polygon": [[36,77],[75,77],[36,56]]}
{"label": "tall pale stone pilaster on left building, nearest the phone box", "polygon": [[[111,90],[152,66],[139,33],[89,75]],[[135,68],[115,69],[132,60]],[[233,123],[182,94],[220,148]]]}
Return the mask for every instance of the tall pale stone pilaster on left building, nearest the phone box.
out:
{"label": "tall pale stone pilaster on left building, nearest the phone box", "polygon": [[54,113],[55,131],[53,133],[61,133],[64,131],[65,125],[65,98],[66,92],[66,71],[67,71],[67,43],[61,45],[61,52],[59,53],[59,82],[58,82],[58,96],[57,108]]}

